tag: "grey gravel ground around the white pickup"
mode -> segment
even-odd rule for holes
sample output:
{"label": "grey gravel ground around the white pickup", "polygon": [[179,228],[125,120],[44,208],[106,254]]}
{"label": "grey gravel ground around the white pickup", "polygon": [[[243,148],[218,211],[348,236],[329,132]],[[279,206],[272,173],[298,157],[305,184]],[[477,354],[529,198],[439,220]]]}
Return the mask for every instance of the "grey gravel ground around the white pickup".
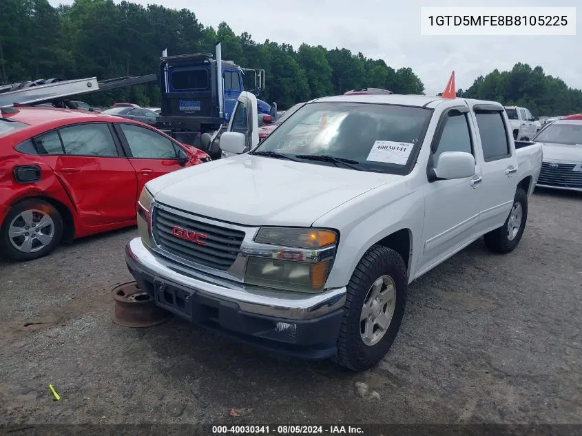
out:
{"label": "grey gravel ground around the white pickup", "polygon": [[413,283],[393,348],[360,374],[180,320],[113,324],[135,229],[0,263],[0,422],[580,423],[581,217],[582,195],[537,191],[518,249],[477,241]]}

